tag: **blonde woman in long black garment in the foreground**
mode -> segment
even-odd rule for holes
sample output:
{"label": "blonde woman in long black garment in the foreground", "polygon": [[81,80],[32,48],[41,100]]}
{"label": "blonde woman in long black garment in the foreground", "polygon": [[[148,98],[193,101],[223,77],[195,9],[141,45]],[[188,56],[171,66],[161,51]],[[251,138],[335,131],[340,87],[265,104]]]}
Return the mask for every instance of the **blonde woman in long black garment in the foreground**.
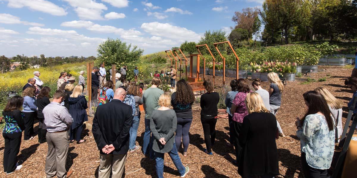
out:
{"label": "blonde woman in long black garment in the foreground", "polygon": [[275,142],[276,118],[265,108],[262,97],[248,93],[239,143],[242,147],[238,173],[242,177],[272,178],[279,175]]}

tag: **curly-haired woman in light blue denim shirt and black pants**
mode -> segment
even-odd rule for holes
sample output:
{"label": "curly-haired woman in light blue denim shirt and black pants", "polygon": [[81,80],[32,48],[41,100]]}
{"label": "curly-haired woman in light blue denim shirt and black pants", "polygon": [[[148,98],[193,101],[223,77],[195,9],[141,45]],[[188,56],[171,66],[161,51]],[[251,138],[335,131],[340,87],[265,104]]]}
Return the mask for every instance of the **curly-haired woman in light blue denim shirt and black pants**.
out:
{"label": "curly-haired woman in light blue denim shirt and black pants", "polygon": [[22,112],[24,113],[25,133],[24,140],[32,140],[34,137],[34,119],[37,117],[37,102],[35,98],[36,87],[31,86],[22,91],[24,103],[22,104]]}

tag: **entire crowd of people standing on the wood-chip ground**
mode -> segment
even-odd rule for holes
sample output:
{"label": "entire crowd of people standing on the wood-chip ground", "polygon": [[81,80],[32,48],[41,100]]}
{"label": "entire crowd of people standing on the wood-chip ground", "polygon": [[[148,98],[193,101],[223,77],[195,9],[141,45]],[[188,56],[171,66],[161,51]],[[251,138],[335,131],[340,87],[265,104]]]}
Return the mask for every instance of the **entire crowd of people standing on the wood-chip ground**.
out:
{"label": "entire crowd of people standing on the wood-chip ground", "polygon": [[[124,174],[127,152],[140,149],[136,145],[137,130],[140,123],[140,105],[145,111],[145,133],[142,153],[155,160],[157,177],[163,177],[164,154],[168,153],[181,177],[190,171],[183,166],[178,151],[188,155],[189,131],[192,124],[192,104],[195,95],[186,82],[181,79],[176,91],[164,93],[158,86],[163,71],[155,72],[151,87],[145,91],[144,84],[126,81],[126,66],[115,73],[117,81],[106,80],[106,71],[92,69],[92,99],[97,100],[92,133],[100,151],[99,177],[121,177]],[[112,72],[112,71],[111,71]],[[171,66],[171,83],[175,87],[176,71]],[[35,136],[34,120],[39,120],[37,131],[39,143],[47,142],[45,172],[47,177],[69,177],[72,171],[65,168],[69,144],[81,144],[82,125],[88,120],[88,107],[82,95],[85,81],[84,71],[80,72],[79,84],[74,86],[75,78],[62,72],[57,81],[57,91],[50,102],[50,88],[43,86],[40,73],[35,72],[24,86],[21,96],[12,97],[4,111],[5,127],[3,137],[4,171],[7,174],[21,169],[17,162],[22,132],[24,140]],[[137,68],[135,76],[139,74]],[[111,73],[112,75],[112,73]],[[175,77],[175,78],[174,78]],[[172,82],[173,80],[173,82]],[[248,84],[246,79],[230,82],[225,104],[227,106],[229,142],[226,146],[235,150],[238,173],[242,177],[272,178],[279,175],[276,139],[285,137],[276,119],[281,106],[284,85],[276,73],[268,74],[270,87],[264,90],[260,79]],[[251,85],[251,87],[250,87]],[[357,96],[357,78],[346,79],[345,85]],[[213,155],[215,146],[217,104],[220,95],[215,91],[211,80],[205,80],[206,93],[201,95],[201,124],[208,155]],[[253,92],[250,88],[253,88]],[[305,177],[326,177],[330,168],[334,145],[342,134],[342,105],[325,88],[318,87],[303,94],[307,112],[297,118],[296,135],[301,142],[301,165]],[[348,106],[352,104],[352,100]],[[170,109],[172,106],[172,109]],[[354,111],[357,113],[357,106]],[[221,145],[222,146],[222,145]]]}

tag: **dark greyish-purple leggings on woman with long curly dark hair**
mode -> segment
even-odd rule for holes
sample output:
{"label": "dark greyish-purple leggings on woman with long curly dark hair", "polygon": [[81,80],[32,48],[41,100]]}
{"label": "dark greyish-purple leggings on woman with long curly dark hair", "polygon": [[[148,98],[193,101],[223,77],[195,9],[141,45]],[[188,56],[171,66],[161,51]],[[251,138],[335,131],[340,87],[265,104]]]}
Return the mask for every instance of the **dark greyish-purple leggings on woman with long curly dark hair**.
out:
{"label": "dark greyish-purple leggings on woman with long curly dark hair", "polygon": [[188,145],[190,144],[190,137],[188,136],[188,132],[190,131],[190,126],[192,123],[191,119],[182,119],[177,117],[177,129],[175,135],[175,142],[176,148],[181,146],[181,138],[182,138],[182,145],[183,145],[183,152],[187,152]]}

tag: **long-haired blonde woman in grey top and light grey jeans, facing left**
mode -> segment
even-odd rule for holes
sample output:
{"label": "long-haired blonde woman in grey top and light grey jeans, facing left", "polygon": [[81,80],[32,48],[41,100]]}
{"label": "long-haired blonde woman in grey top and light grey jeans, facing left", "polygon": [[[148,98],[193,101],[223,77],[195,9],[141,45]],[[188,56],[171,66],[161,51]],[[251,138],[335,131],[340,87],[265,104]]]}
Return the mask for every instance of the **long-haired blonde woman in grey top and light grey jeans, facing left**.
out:
{"label": "long-haired blonde woman in grey top and light grey jeans, facing left", "polygon": [[[270,83],[269,92],[269,104],[270,104],[270,112],[276,115],[281,105],[281,93],[284,90],[284,85],[281,82],[278,74],[274,72],[268,73],[268,82]],[[279,131],[279,136],[285,137],[283,130],[280,127],[278,120],[276,120],[277,128]]]}

